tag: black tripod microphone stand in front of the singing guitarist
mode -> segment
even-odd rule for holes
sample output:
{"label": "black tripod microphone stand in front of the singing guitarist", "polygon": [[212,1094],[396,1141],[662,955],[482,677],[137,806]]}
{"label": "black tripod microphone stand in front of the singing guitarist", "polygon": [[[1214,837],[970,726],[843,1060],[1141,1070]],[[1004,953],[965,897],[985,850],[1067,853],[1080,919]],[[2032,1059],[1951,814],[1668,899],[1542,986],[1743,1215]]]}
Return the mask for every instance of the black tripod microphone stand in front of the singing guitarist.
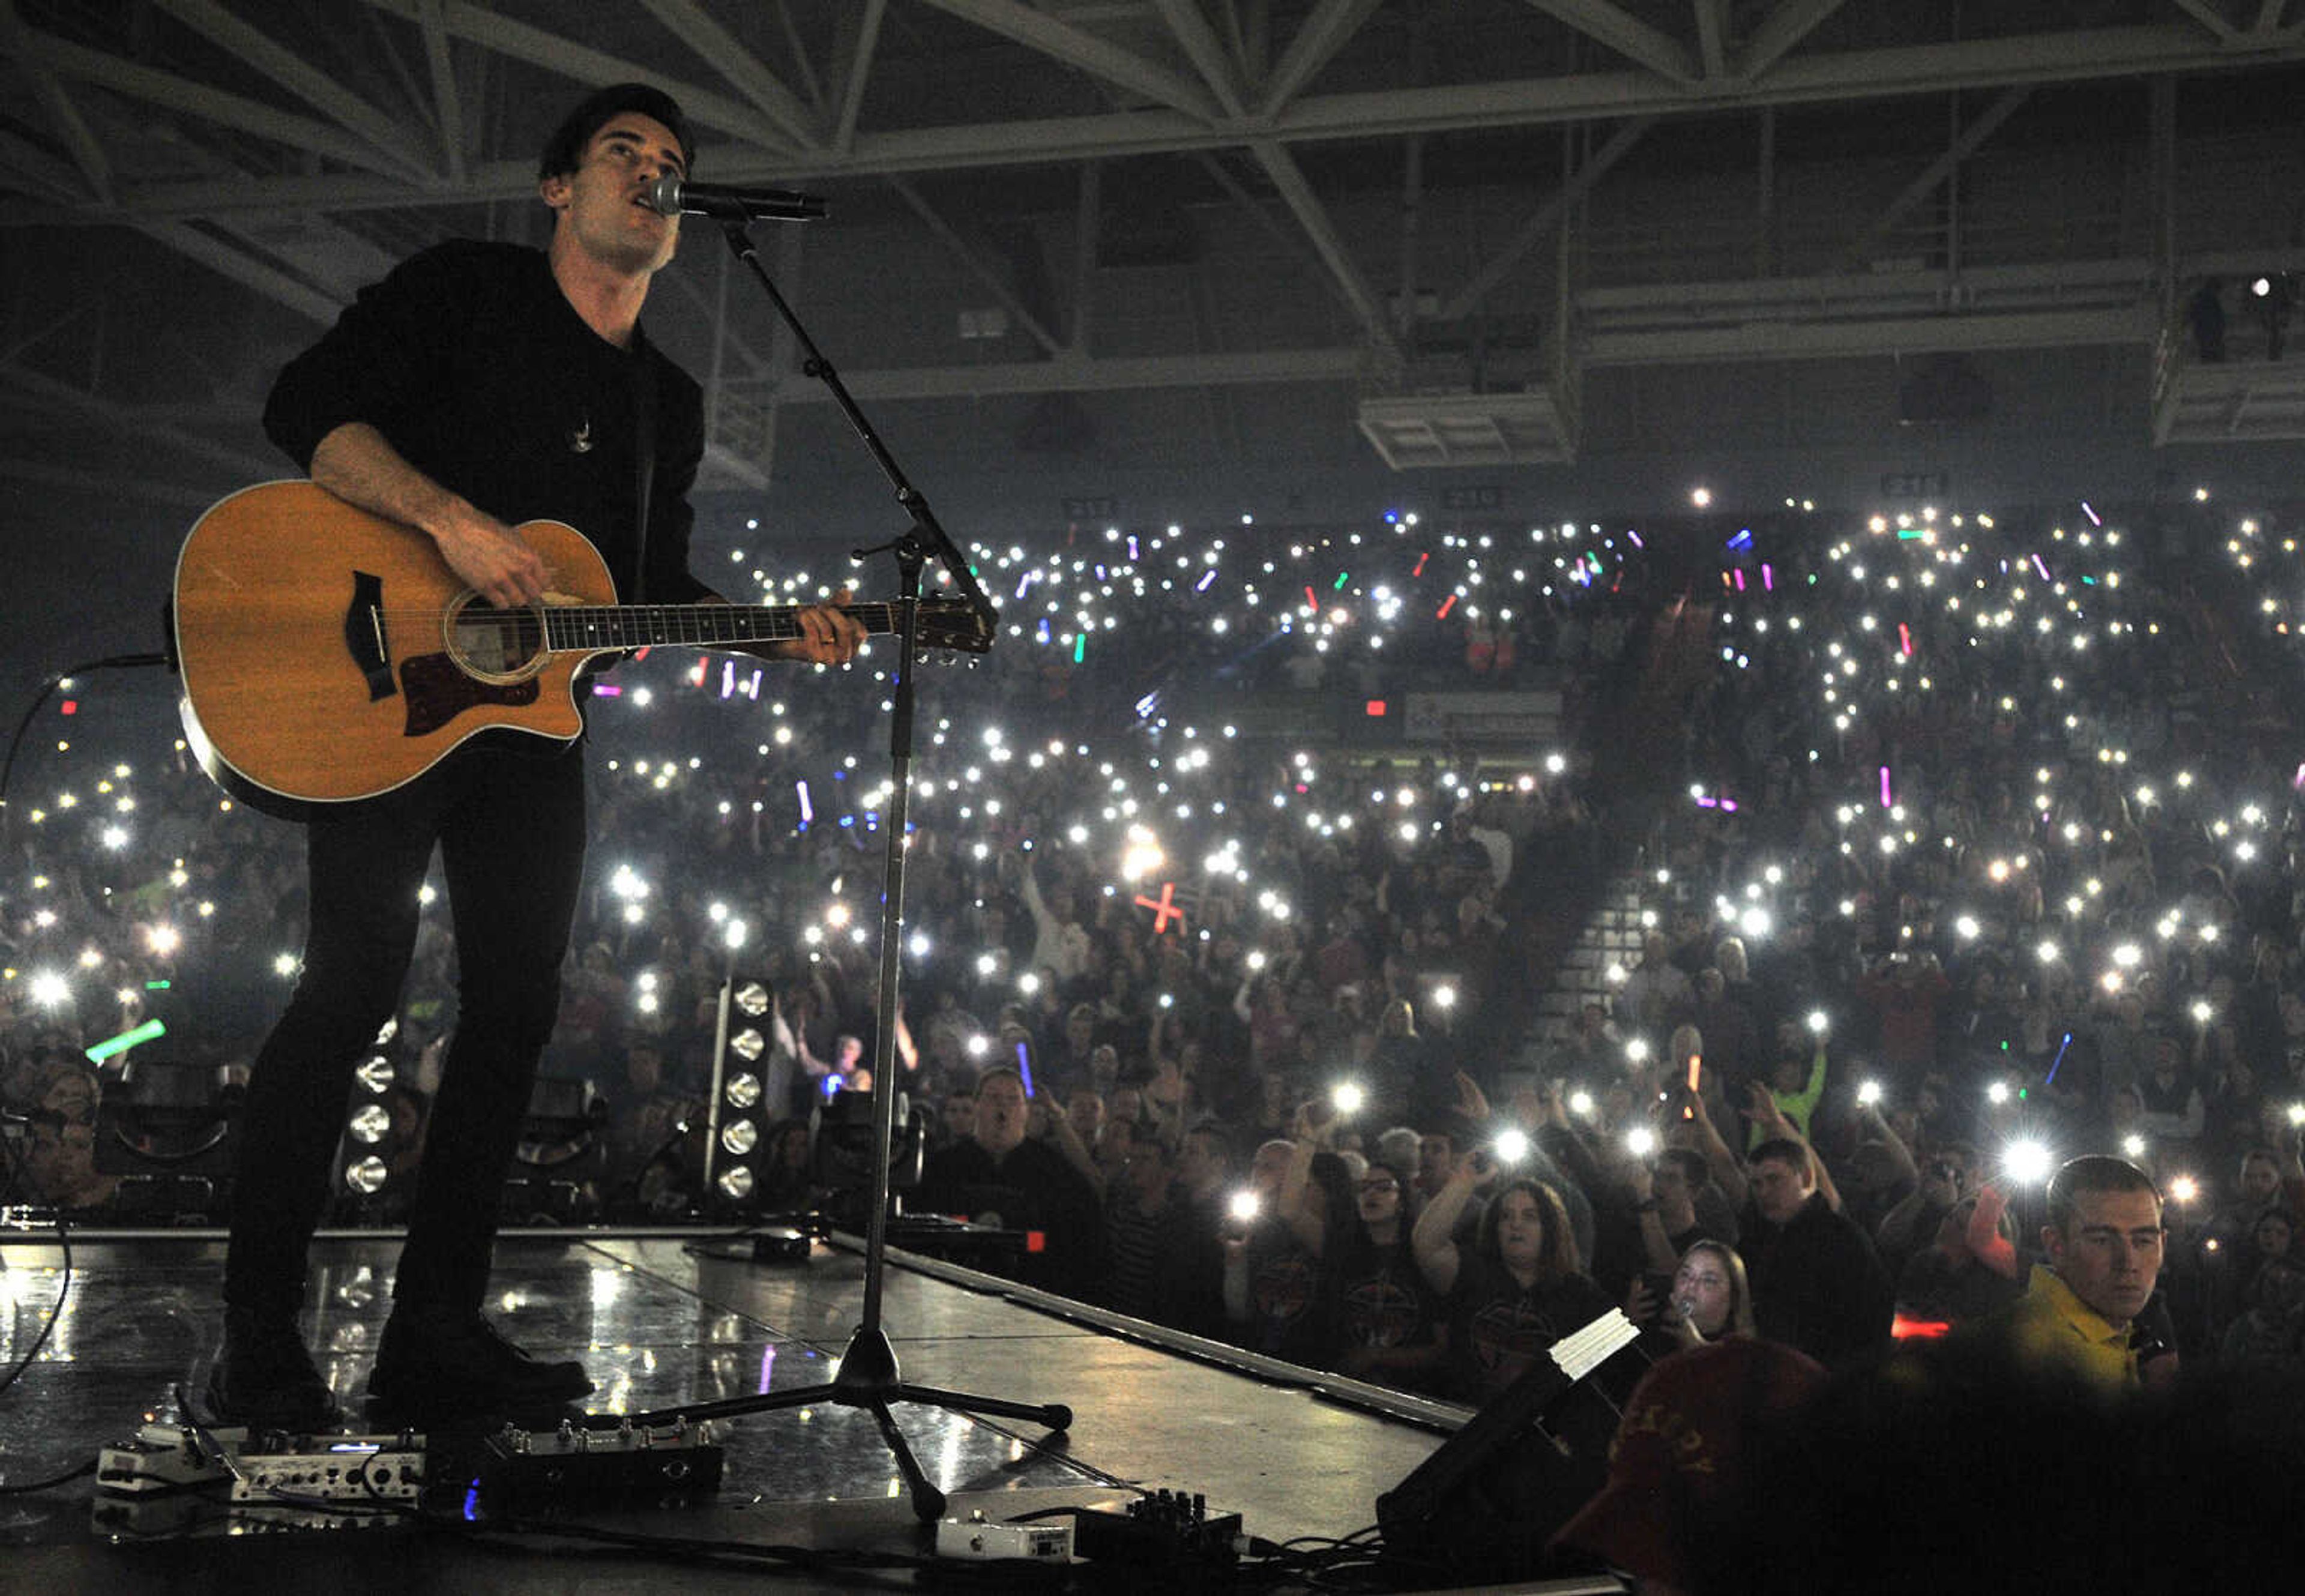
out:
{"label": "black tripod microphone stand in front of the singing guitarist", "polygon": [[904,835],[906,835],[906,807],[913,793],[913,671],[917,667],[917,630],[920,630],[920,574],[922,567],[936,558],[952,574],[952,586],[961,590],[961,597],[975,609],[987,623],[993,616],[991,600],[984,597],[984,588],[977,584],[975,574],[968,570],[968,560],[945,535],[945,528],[936,524],[929,510],[929,500],[904,477],[904,470],[890,457],[881,436],[864,420],[864,413],[851,399],[848,390],[841,385],[839,374],[832,362],[823,357],[809,330],[800,325],[800,316],[786,304],[784,295],[777,293],[777,284],[770,281],[761,265],[761,254],[754,249],[747,221],[742,214],[717,214],[721,233],[728,238],[728,249],[735,258],[751,268],[751,274],[761,281],[761,291],[768,293],[770,304],[784,318],[784,325],[793,330],[804,355],[802,371],[818,378],[832,399],[841,406],[841,415],[855,429],[857,438],[871,452],[874,461],[881,466],[881,475],[890,480],[897,489],[897,503],[904,505],[906,517],[910,517],[910,530],[906,530],[894,542],[881,544],[876,549],[857,549],[855,558],[869,554],[892,554],[897,558],[899,579],[899,602],[897,602],[897,671],[894,671],[894,694],[890,710],[890,805],[887,805],[887,828],[883,830],[883,865],[881,865],[881,994],[878,994],[878,1038],[874,1045],[874,1135],[878,1142],[878,1158],[874,1160],[874,1188],[871,1188],[871,1220],[864,1227],[864,1319],[857,1324],[855,1333],[848,1338],[848,1349],[841,1354],[839,1372],[832,1377],[830,1386],[804,1386],[793,1391],[763,1391],[761,1395],[731,1398],[726,1402],[705,1402],[698,1407],[668,1409],[664,1414],[638,1414],[634,1423],[655,1423],[662,1418],[740,1418],[745,1414],[781,1411],[788,1407],[816,1407],[823,1402],[837,1402],[841,1407],[862,1407],[874,1416],[881,1428],[881,1441],[887,1446],[890,1455],[897,1460],[897,1471],[904,1476],[906,1488],[913,1495],[913,1513],[924,1520],[938,1520],[945,1513],[945,1492],[929,1483],[922,1474],[920,1462],[913,1458],[913,1448],[904,1439],[904,1430],[897,1428],[890,1414],[892,1402],[922,1402],[929,1407],[945,1407],[961,1414],[991,1414],[996,1418],[1026,1418],[1030,1423],[1046,1425],[1049,1430],[1065,1432],[1072,1428],[1072,1409],[1060,1402],[1010,1402],[1003,1398],[970,1395],[963,1391],[938,1391],[936,1386],[908,1384],[897,1370],[897,1349],[887,1340],[887,1331],[881,1328],[881,1282],[887,1271],[887,1209],[890,1209],[890,1151],[897,1142],[897,969],[899,953],[904,948]]}

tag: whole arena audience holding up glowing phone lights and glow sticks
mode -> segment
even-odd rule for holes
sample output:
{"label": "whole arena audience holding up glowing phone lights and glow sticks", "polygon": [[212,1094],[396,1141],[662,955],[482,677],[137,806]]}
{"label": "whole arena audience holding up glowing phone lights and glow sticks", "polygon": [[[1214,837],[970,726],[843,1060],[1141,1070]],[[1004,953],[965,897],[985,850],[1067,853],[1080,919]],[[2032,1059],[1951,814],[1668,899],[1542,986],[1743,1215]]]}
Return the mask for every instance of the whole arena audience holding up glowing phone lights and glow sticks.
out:
{"label": "whole arena audience holding up glowing phone lights and glow sticks", "polygon": [[[2176,542],[2086,514],[1777,521],[1701,577],[1703,669],[1637,727],[1602,722],[1643,701],[1630,673],[1667,671],[1637,544],[1616,593],[1517,572],[1503,627],[1404,616],[1431,554],[1399,526],[1353,551],[1353,616],[1305,584],[1270,623],[1291,577],[1339,563],[1314,542],[1229,604],[1132,577],[1173,533],[1129,567],[1111,549],[1109,609],[1081,593],[1074,634],[1035,639],[1014,604],[1021,646],[950,683],[1030,731],[929,690],[892,1038],[929,1126],[906,1206],[1033,1234],[1003,1264],[1030,1282],[1478,1402],[1609,1305],[1657,1356],[1747,1333],[1828,1368],[2008,1315],[2045,1257],[2047,1169],[2102,1153],[2167,1202],[2139,1368],[2305,1356],[2296,786],[2238,657],[2284,637],[2227,618],[2268,540],[2245,524],[2224,565],[2171,579]],[[1475,540],[1448,542],[1480,570]],[[991,563],[1028,597],[1093,567]],[[1353,634],[1381,616],[1390,653]],[[1072,664],[1090,637],[1127,664]],[[602,717],[604,842],[546,1056],[595,1132],[532,1149],[553,1218],[710,1202],[731,976],[774,994],[756,1209],[821,1197],[811,1116],[874,1084],[876,706],[763,703],[715,669],[625,667]],[[1187,717],[1194,683],[1305,694],[1339,669],[1353,692],[1567,683],[1588,747],[1385,761]],[[733,777],[662,752],[763,710]],[[1671,740],[1685,780],[1625,805],[1639,830],[1586,800],[1623,738]],[[118,1176],[90,1144],[120,1061],[81,1049],[161,1015],[228,1098],[295,973],[300,872],[295,833],[184,752],[76,800],[131,835],[51,851],[78,835],[62,805],[18,833],[0,1047],[35,1121],[18,1192],[101,1213]],[[1611,851],[1639,858],[1643,950],[1537,1047],[1517,953],[1565,913],[1547,872]],[[385,1179],[346,1211],[392,1218],[454,1010],[426,920],[383,1112],[339,1160]]]}

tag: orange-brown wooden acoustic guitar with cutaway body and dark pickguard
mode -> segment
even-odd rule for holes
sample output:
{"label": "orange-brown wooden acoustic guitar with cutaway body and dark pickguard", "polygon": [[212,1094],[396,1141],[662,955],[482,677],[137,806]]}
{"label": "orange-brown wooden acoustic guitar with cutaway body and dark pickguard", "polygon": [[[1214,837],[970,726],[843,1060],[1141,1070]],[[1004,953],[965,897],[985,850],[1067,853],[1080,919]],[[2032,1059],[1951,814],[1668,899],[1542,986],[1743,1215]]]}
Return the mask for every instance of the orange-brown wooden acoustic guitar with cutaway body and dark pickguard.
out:
{"label": "orange-brown wooden acoustic guitar with cutaway body and dark pickguard", "polygon": [[[184,733],[201,766],[267,814],[313,819],[406,786],[477,736],[567,745],[592,660],[802,634],[800,604],[618,604],[583,533],[526,521],[551,590],[496,609],[424,533],[311,482],[265,482],[198,519],[175,563]],[[846,604],[894,634],[901,604]],[[924,600],[927,648],[987,653],[991,616]]]}

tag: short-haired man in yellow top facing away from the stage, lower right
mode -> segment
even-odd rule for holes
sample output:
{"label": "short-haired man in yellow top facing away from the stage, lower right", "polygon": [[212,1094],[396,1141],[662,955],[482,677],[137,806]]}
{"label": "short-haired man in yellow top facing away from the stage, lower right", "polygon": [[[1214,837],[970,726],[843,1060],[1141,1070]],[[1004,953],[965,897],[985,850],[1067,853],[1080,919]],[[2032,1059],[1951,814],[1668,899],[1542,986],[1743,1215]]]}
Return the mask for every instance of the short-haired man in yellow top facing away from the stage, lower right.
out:
{"label": "short-haired man in yellow top facing away from the stage, lower right", "polygon": [[2104,1391],[2134,1391],[2130,1324],[2153,1296],[2162,1264],[2162,1204],[2153,1179],[2125,1158],[2074,1158],[2049,1181],[2047,1264],[1996,1328],[2028,1363],[2056,1363]]}

